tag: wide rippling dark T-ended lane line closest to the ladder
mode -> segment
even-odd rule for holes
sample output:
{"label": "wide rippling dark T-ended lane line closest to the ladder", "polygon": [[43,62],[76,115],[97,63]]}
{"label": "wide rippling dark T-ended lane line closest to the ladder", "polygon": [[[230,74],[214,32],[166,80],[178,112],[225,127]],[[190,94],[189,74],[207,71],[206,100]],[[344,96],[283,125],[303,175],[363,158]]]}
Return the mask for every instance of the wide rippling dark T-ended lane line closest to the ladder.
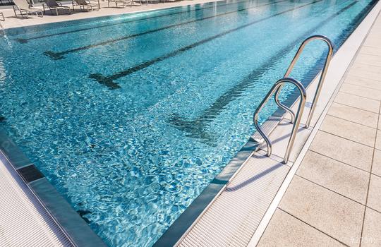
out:
{"label": "wide rippling dark T-ended lane line closest to the ladder", "polygon": [[[376,0],[378,1],[378,0]],[[282,59],[286,54],[291,52],[294,47],[300,44],[301,40],[311,35],[317,28],[322,27],[322,25],[326,25],[330,20],[348,10],[352,6],[354,6],[357,1],[353,1],[348,6],[341,8],[341,10],[334,13],[329,18],[326,18],[322,22],[315,25],[313,28],[310,28],[308,31],[304,32],[302,35],[299,35],[291,44],[287,47],[284,47],[280,52],[270,57],[265,64],[262,64],[259,69],[252,71],[248,76],[243,78],[240,83],[227,90],[223,95],[217,98],[216,101],[205,111],[198,116],[197,119],[188,119],[179,116],[178,114],[172,114],[169,118],[169,123],[171,123],[174,127],[178,128],[181,131],[186,132],[186,136],[190,138],[195,138],[203,141],[204,143],[210,144],[212,139],[210,139],[210,134],[205,131],[205,129],[209,126],[209,123],[214,121],[214,119],[221,114],[221,112],[225,109],[225,107],[232,101],[236,100],[238,97],[241,97],[242,93],[248,90],[248,88],[252,88],[255,85],[255,78],[262,76],[264,73],[269,71],[273,64],[275,64],[279,59]]]}

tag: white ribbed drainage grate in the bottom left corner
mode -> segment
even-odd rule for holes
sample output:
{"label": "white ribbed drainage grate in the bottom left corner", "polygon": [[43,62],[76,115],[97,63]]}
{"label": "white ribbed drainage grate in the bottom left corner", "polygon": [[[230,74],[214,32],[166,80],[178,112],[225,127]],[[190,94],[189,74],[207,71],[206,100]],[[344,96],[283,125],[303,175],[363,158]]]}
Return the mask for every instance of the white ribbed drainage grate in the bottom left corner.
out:
{"label": "white ribbed drainage grate in the bottom left corner", "polygon": [[20,179],[0,161],[0,246],[73,246]]}

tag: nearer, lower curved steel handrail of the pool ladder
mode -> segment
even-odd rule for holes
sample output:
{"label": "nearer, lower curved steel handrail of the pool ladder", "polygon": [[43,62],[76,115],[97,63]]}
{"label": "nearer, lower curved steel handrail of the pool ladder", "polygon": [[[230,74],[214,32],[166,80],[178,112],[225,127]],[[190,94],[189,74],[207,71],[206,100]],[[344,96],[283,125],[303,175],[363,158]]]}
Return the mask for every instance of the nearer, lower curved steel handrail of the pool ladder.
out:
{"label": "nearer, lower curved steel handrail of the pool ladder", "polygon": [[282,79],[278,80],[272,86],[270,91],[267,92],[267,95],[262,100],[262,102],[260,102],[260,105],[255,110],[254,116],[253,116],[255,128],[257,129],[258,133],[260,133],[260,135],[262,135],[262,138],[265,140],[266,145],[267,145],[267,156],[270,157],[270,155],[272,153],[272,143],[271,143],[271,140],[267,137],[267,135],[262,131],[262,129],[258,125],[258,116],[259,116],[260,111],[262,110],[263,107],[265,107],[265,104],[270,100],[270,97],[274,94],[274,92],[279,90],[279,88],[282,88],[282,86],[286,83],[291,83],[291,84],[295,85],[296,88],[298,88],[299,93],[301,95],[301,102],[299,103],[298,112],[296,112],[295,121],[294,121],[294,125],[292,126],[292,131],[291,131],[289,143],[287,144],[286,153],[284,155],[284,160],[283,160],[284,164],[286,164],[289,161],[289,155],[291,153],[292,146],[294,145],[294,140],[296,137],[297,128],[298,128],[299,124],[301,123],[301,116],[303,114],[304,104],[306,104],[306,97],[307,97],[306,89],[304,88],[304,86],[300,82],[298,82],[298,80],[295,80],[293,78],[282,78]]}

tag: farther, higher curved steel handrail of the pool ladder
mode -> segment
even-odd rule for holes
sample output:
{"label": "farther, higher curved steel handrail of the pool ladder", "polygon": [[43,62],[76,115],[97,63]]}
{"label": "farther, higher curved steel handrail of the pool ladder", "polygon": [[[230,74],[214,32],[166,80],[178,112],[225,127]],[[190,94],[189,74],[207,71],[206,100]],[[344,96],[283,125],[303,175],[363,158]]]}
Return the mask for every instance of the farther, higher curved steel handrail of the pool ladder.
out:
{"label": "farther, higher curved steel handrail of the pool ladder", "polygon": [[[296,54],[294,56],[294,59],[292,59],[291,64],[289,65],[289,68],[287,68],[287,71],[284,74],[284,78],[289,77],[289,74],[291,73],[292,69],[294,68],[294,66],[296,64],[296,61],[298,61],[299,56],[301,56],[301,53],[303,52],[304,47],[306,47],[306,45],[309,42],[313,41],[313,40],[322,40],[322,41],[324,41],[327,44],[327,46],[328,46],[328,53],[327,53],[327,56],[325,58],[325,64],[324,64],[324,67],[322,68],[322,74],[320,75],[320,80],[319,80],[319,83],[317,84],[315,95],[313,97],[313,102],[312,102],[312,105],[311,105],[310,113],[308,114],[308,118],[307,118],[307,121],[306,121],[305,128],[308,128],[310,126],[310,122],[311,122],[313,113],[315,112],[316,102],[317,102],[317,100],[319,100],[320,92],[322,90],[322,85],[324,83],[325,76],[327,75],[328,66],[329,66],[329,63],[330,63],[330,61],[332,59],[333,44],[332,44],[331,40],[329,40],[327,37],[325,37],[323,35],[313,35],[313,36],[308,37],[306,40],[304,40],[301,43],[301,46],[299,47],[298,52],[296,52]],[[293,123],[294,119],[295,119],[294,112],[292,112],[292,110],[289,109],[289,107],[286,107],[284,104],[279,102],[279,92],[280,92],[280,90],[282,90],[282,87],[279,87],[277,89],[277,92],[275,92],[275,102],[277,102],[279,107],[281,107],[286,112],[289,112],[291,114],[291,123]]]}

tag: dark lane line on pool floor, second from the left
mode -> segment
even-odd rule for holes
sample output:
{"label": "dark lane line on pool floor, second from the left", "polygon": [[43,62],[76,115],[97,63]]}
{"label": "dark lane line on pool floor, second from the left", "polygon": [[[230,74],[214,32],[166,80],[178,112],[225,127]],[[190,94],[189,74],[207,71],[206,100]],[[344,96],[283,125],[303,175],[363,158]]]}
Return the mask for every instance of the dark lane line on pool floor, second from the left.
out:
{"label": "dark lane line on pool floor, second from the left", "polygon": [[[281,0],[281,1],[277,1],[275,3],[280,3],[282,1],[289,1],[289,0]],[[274,4],[274,3],[272,3],[272,4]],[[267,6],[267,5],[270,5],[270,4],[263,4],[263,5],[259,5],[259,6],[253,6],[253,7],[250,7],[250,8],[258,8],[258,7]],[[195,19],[195,20],[189,20],[189,21],[186,21],[185,23],[177,23],[177,24],[173,24],[173,25],[168,25],[168,26],[163,27],[163,28],[157,28],[157,29],[154,29],[154,30],[148,30],[148,31],[145,31],[145,32],[137,33],[135,35],[127,35],[127,36],[119,37],[117,39],[107,40],[107,41],[104,41],[104,42],[99,42],[99,43],[96,43],[96,44],[89,44],[89,45],[87,45],[85,47],[78,47],[78,48],[74,48],[74,49],[69,49],[69,50],[66,50],[66,51],[63,51],[63,52],[47,51],[47,52],[44,52],[44,55],[50,56],[51,59],[59,60],[59,59],[63,59],[64,58],[63,55],[65,55],[65,54],[79,52],[79,51],[82,51],[82,50],[85,50],[85,49],[94,48],[94,47],[100,47],[100,46],[103,46],[103,45],[106,45],[106,44],[111,44],[111,43],[119,42],[119,41],[122,41],[122,40],[129,40],[129,39],[131,39],[133,37],[138,37],[140,35],[147,35],[147,34],[150,34],[150,33],[153,33],[153,32],[159,32],[159,31],[166,30],[166,29],[169,29],[169,28],[174,28],[174,27],[178,27],[178,26],[181,26],[181,25],[186,25],[186,24],[189,24],[189,23],[195,23],[195,22],[198,22],[200,20],[207,20],[207,19],[211,19],[211,18],[217,18],[217,17],[220,17],[220,16],[226,16],[226,15],[229,15],[231,13],[236,13],[236,12],[239,12],[239,11],[246,11],[246,10],[248,10],[250,8],[242,8],[242,9],[239,9],[238,11],[230,11],[230,12],[220,13],[220,14],[215,15],[215,16],[208,16],[208,17],[205,17],[205,18],[199,18],[199,19]]]}

